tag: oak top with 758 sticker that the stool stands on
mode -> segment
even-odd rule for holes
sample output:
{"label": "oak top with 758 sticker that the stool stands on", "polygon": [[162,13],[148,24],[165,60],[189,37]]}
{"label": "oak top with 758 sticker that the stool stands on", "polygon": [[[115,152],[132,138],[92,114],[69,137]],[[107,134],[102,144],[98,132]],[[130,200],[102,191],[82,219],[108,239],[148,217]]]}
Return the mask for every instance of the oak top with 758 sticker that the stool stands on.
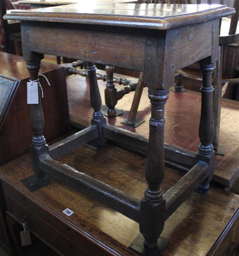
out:
{"label": "oak top with 758 sticker that the stool stands on", "polygon": [[[130,193],[136,198],[141,199],[143,197],[143,191],[146,188],[144,178],[146,159],[144,157],[107,144],[97,152],[87,147],[81,147],[58,160],[84,171],[106,184]],[[45,220],[44,225],[46,226],[41,225],[38,229],[46,232],[47,227],[49,227],[48,230],[53,229],[55,231],[54,238],[51,238],[51,232],[48,231],[49,235],[44,239],[55,239],[56,241],[58,239],[59,241],[64,226],[68,226],[70,230],[67,232],[67,241],[73,243],[74,237],[77,237],[76,233],[84,230],[90,234],[89,236],[106,244],[120,255],[134,255],[127,247],[139,233],[136,222],[86,195],[76,192],[73,188],[52,177],[52,184],[40,190],[29,192],[20,180],[32,174],[29,155],[24,155],[0,168],[3,188],[5,190],[10,189],[10,185],[20,191],[20,195],[23,194],[24,197],[32,201],[31,208],[25,208],[24,211],[34,213],[34,204],[37,207],[40,205],[41,210],[46,211],[44,215],[39,211],[40,215],[37,219],[38,221]],[[166,167],[165,179],[162,184],[163,192],[175,184],[180,177],[182,176],[177,171]],[[16,208],[17,204],[22,204],[24,207],[28,199],[24,201],[15,192],[9,193],[12,211],[19,215]],[[189,199],[166,221],[162,235],[168,238],[170,243],[163,255],[203,256],[207,255],[210,249],[215,252],[218,244],[223,242],[223,238],[227,234],[226,232],[221,236],[232,216],[236,214],[238,205],[238,195],[222,191],[216,187],[210,188],[206,196],[193,192]],[[67,217],[62,213],[65,208],[70,208],[74,214]],[[63,224],[54,226],[54,218],[57,218],[56,223],[60,220]],[[231,225],[235,222],[236,219],[232,221]],[[35,228],[37,229],[37,226]],[[237,238],[234,240],[238,242]],[[213,247],[214,243],[216,244]],[[77,246],[80,246],[80,241],[74,242],[73,248],[75,250]],[[63,245],[59,244],[57,249],[60,250],[62,247]]]}

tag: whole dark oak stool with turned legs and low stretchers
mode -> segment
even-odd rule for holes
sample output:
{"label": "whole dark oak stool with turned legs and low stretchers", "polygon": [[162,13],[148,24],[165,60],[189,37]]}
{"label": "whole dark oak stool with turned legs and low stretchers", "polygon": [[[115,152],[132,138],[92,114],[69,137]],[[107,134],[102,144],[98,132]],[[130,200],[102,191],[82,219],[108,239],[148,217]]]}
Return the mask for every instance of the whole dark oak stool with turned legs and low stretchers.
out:
{"label": "whole dark oak stool with turned legs and low stretchers", "polygon": [[[177,10],[180,10],[180,15]],[[49,156],[49,148],[43,137],[44,119],[40,101],[31,106],[33,130],[31,157],[36,188],[48,182],[47,174],[53,174],[61,181],[79,188],[80,191],[106,206],[139,222],[139,230],[144,237],[144,245],[141,246],[145,246],[146,255],[151,256],[155,253],[159,255],[161,252],[157,247],[157,241],[163,232],[166,213],[172,214],[186,200],[186,195],[189,196],[189,193],[200,184],[204,190],[208,189],[213,175],[215,153],[211,144],[213,139],[211,81],[214,63],[218,58],[218,21],[220,17],[233,12],[232,8],[217,5],[110,3],[99,4],[93,9],[85,9],[76,4],[25,12],[16,11],[6,15],[6,19],[21,20],[23,58],[27,62],[31,80],[38,78],[43,53],[88,61],[90,103],[93,107],[90,129],[97,129],[98,136],[95,143],[98,146],[105,145],[104,131],[110,129],[110,126],[106,125],[106,119],[101,111],[100,90],[96,66],[93,62],[116,66],[124,63],[128,68],[144,71],[151,103],[145,171],[148,187],[140,206],[139,200],[132,195],[111,188],[93,177],[77,172],[73,167],[60,164]],[[206,38],[201,37],[202,31],[208,34]],[[44,42],[41,41],[43,35]],[[105,49],[108,41],[112,44],[108,44],[109,47]],[[127,48],[124,48],[122,42],[127,44]],[[185,57],[181,58],[183,54]],[[165,167],[164,106],[169,98],[169,88],[174,82],[175,71],[199,60],[202,60],[200,63],[203,72],[199,126],[201,144],[198,154],[194,157],[195,170],[200,167],[199,177],[192,179],[190,174],[194,172],[191,169],[188,176],[173,187],[174,193],[169,194],[167,198],[167,204],[173,207],[170,206],[167,210],[161,189]],[[109,73],[107,82],[113,87],[113,75]],[[115,134],[119,133],[123,137],[128,135],[127,131],[116,127],[114,130]],[[136,141],[133,135],[131,137]],[[107,138],[113,139],[113,137]],[[77,137],[74,140],[77,140]],[[70,147],[72,150],[74,144],[64,147]],[[175,155],[184,154],[179,148],[174,148],[173,151],[179,151]],[[174,157],[172,154],[172,158]],[[26,184],[25,180],[24,184]],[[181,187],[186,187],[186,190]]]}

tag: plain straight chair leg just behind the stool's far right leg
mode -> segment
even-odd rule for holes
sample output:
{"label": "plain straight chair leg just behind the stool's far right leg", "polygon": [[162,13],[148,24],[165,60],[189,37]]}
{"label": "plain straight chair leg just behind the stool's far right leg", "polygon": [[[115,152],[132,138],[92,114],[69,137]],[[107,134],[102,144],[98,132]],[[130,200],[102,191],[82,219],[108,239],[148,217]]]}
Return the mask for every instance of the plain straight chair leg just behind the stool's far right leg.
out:
{"label": "plain straight chair leg just behind the stool's far right leg", "polygon": [[221,114],[221,92],[222,92],[222,46],[219,45],[219,56],[214,71],[214,94],[213,94],[213,117],[214,137],[212,145],[216,154],[225,154],[225,145],[219,144],[219,128]]}

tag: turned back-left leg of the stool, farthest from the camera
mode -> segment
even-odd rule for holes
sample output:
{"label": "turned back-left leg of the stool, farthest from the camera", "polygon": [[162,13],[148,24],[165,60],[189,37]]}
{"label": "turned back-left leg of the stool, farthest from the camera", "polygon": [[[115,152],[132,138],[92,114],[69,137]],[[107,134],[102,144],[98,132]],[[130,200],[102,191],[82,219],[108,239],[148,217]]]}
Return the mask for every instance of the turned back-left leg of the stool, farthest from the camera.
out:
{"label": "turned back-left leg of the stool, farthest from the camera", "polygon": [[98,87],[97,77],[96,77],[96,66],[93,62],[89,62],[86,68],[88,72],[89,84],[90,84],[90,104],[94,109],[93,119],[91,119],[91,124],[98,127],[99,137],[96,142],[103,146],[106,143],[106,139],[103,137],[102,126],[106,124],[106,119],[103,112],[101,111],[101,96]]}

